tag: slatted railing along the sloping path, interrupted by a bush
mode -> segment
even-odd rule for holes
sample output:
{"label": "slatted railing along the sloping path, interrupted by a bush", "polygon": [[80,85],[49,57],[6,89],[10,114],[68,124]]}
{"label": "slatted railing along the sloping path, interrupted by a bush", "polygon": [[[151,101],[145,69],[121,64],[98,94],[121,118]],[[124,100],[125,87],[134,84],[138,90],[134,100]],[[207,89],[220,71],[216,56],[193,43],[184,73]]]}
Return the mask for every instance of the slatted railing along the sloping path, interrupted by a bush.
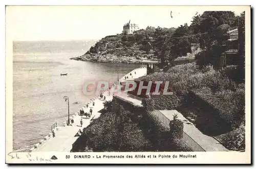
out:
{"label": "slatted railing along the sloping path, interrupted by a bush", "polygon": [[[159,120],[163,123],[164,126],[166,126],[168,129],[170,129],[170,119],[167,118],[163,113],[161,113],[159,110],[154,110],[152,112],[156,117],[159,118]],[[186,144],[187,147],[190,147],[194,152],[205,152],[205,150],[193,139],[191,138],[187,133],[183,132],[183,137],[181,141]]]}

